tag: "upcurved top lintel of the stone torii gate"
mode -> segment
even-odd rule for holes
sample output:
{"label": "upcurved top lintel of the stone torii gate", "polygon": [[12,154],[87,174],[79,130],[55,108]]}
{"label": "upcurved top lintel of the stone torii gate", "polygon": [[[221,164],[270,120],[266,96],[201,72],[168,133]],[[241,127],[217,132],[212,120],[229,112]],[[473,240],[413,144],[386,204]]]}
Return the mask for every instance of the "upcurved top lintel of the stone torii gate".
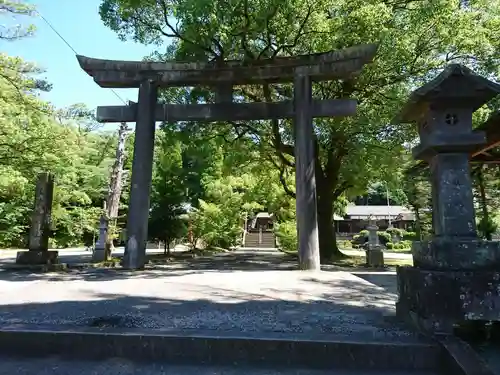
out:
{"label": "upcurved top lintel of the stone torii gate", "polygon": [[252,62],[146,62],[93,59],[77,55],[81,68],[101,87],[133,88],[151,80],[159,86],[179,87],[220,84],[252,84],[290,82],[297,72],[313,80],[348,78],[361,72],[371,62],[377,45],[359,45],[294,57]]}

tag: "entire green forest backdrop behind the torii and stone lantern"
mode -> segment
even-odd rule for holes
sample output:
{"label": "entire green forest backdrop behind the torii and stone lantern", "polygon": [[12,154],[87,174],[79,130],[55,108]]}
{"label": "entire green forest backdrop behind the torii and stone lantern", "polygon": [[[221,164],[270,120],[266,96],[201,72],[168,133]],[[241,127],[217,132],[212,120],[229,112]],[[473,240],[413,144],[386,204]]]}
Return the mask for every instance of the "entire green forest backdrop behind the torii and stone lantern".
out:
{"label": "entire green forest backdrop behind the torii and stone lantern", "polygon": [[[36,16],[31,6],[1,1],[0,17]],[[338,254],[333,215],[349,202],[406,205],[417,213],[417,230],[430,231],[430,193],[415,163],[413,126],[392,120],[409,93],[448,63],[463,63],[499,80],[500,3],[486,0],[103,0],[102,21],[123,39],[156,46],[147,60],[218,61],[272,59],[357,44],[377,43],[375,61],[359,78],[314,86],[322,99],[352,97],[358,113],[317,119],[316,180],[323,258]],[[0,43],[36,38],[34,30],[4,29]],[[113,56],[108,58],[112,59]],[[50,82],[34,64],[0,54],[0,248],[25,247],[36,175],[55,175],[52,246],[92,243],[103,203],[109,199],[113,165],[123,159],[117,231],[125,228],[133,154],[133,130],[104,130],[85,104],[55,108],[40,99]],[[68,61],[68,64],[76,64]],[[289,85],[237,87],[247,101],[291,97]],[[214,100],[207,88],[160,92],[169,103]],[[106,103],[103,103],[105,105]],[[499,108],[476,114],[478,125]],[[186,238],[227,248],[241,238],[246,215],[268,211],[276,232],[293,250],[294,158],[291,124],[163,123],[156,132],[149,235]],[[120,150],[119,140],[124,141]],[[497,230],[498,166],[474,166],[477,213],[483,236]]]}

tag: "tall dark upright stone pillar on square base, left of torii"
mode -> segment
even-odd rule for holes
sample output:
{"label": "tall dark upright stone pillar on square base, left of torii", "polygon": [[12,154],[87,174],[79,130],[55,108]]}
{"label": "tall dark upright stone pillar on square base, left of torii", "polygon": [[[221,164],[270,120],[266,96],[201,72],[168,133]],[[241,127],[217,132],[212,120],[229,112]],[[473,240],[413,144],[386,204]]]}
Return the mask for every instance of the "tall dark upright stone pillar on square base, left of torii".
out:
{"label": "tall dark upright stone pillar on square base, left of torii", "polygon": [[49,251],[49,233],[54,196],[54,176],[41,173],[35,188],[35,207],[31,216],[29,250],[19,251],[17,264],[54,264],[57,263],[57,251]]}

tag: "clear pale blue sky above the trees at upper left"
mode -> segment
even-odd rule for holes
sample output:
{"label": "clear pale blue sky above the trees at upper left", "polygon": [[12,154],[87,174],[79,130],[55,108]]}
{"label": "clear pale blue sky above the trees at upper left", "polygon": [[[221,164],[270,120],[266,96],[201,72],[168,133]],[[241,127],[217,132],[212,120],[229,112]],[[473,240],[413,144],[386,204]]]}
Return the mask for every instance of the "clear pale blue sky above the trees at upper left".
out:
{"label": "clear pale blue sky above the trees at upper left", "polygon": [[[103,25],[98,8],[100,0],[31,0],[37,10],[81,55],[89,57],[141,60],[153,51],[132,41],[122,42]],[[2,22],[5,20],[2,19]],[[7,21],[7,24],[12,21]],[[119,105],[122,102],[109,89],[103,89],[80,69],[73,51],[39,17],[22,17],[15,23],[33,23],[33,37],[2,43],[2,52],[21,56],[46,70],[42,76],[53,84],[43,99],[57,107],[85,103],[89,108],[98,105]],[[115,90],[125,101],[137,100],[136,89]]]}

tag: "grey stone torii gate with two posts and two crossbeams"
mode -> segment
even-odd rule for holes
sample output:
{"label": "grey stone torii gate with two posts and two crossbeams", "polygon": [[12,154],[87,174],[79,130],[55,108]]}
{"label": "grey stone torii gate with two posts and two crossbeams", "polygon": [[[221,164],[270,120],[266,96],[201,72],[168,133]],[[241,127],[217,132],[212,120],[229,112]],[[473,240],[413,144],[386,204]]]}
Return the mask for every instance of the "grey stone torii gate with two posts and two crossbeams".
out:
{"label": "grey stone torii gate with two posts and two crossbeams", "polygon": [[[295,135],[296,211],[299,262],[302,269],[319,269],[319,243],[314,169],[314,117],[356,113],[352,99],[314,100],[312,82],[350,79],[372,61],[377,46],[361,45],[341,51],[279,57],[255,62],[220,63],[140,62],[77,56],[81,68],[104,88],[139,88],[137,103],[98,107],[100,122],[136,122],[132,181],[123,266],[145,263],[149,195],[156,121],[249,121],[292,118]],[[294,84],[293,101],[233,103],[233,87],[247,84]],[[157,104],[159,87],[209,86],[215,104]]]}

